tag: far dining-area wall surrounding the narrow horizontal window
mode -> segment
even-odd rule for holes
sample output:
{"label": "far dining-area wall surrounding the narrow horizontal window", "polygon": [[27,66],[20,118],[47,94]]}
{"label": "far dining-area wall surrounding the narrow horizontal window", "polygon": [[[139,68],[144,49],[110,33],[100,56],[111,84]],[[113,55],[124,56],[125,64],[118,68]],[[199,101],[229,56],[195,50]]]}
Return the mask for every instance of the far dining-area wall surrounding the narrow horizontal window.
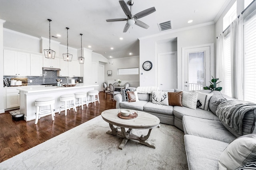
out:
{"label": "far dining-area wall surrounding the narrow horizontal window", "polygon": [[[108,63],[105,64],[105,82],[115,81],[120,79],[122,82],[124,81],[139,81],[140,80],[140,72],[137,75],[118,75],[118,68],[139,68],[139,56],[133,57],[124,57],[119,59],[110,59]],[[113,63],[113,64],[112,64]],[[107,70],[112,70],[112,76],[107,76]]]}

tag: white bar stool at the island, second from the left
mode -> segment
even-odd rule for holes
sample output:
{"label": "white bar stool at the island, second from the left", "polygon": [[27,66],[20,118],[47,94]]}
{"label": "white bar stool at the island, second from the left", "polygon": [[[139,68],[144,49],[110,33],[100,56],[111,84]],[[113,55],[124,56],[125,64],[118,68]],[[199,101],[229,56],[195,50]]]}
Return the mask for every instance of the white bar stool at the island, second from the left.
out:
{"label": "white bar stool at the island, second from the left", "polygon": [[[65,109],[65,116],[67,115],[67,109],[73,108],[76,111],[76,98],[74,94],[63,94],[60,96],[60,101],[65,102],[65,105],[60,106],[59,114],[61,109]],[[73,104],[70,104],[70,101],[73,101]]]}

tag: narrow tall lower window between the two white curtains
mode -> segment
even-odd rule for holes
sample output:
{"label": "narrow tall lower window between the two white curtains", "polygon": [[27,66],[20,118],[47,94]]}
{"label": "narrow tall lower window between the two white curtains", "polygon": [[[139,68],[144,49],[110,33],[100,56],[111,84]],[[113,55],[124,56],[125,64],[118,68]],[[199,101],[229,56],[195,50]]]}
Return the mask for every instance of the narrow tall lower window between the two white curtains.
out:
{"label": "narrow tall lower window between the two white curtains", "polygon": [[232,96],[231,93],[231,56],[230,56],[230,34],[224,38],[224,63],[225,63],[225,94]]}

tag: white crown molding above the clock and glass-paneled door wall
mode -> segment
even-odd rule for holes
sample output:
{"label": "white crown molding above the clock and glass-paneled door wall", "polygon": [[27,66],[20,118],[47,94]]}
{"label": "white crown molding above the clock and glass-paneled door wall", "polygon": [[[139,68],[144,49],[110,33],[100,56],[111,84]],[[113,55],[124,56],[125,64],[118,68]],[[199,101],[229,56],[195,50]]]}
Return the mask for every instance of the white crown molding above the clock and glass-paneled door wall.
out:
{"label": "white crown molding above the clock and glass-paneled door wall", "polygon": [[201,23],[201,24],[197,24],[197,25],[192,25],[189,27],[184,27],[184,28],[180,28],[180,29],[174,29],[174,30],[170,30],[170,31],[166,31],[164,33],[157,33],[157,34],[153,34],[153,35],[148,35],[146,37],[140,37],[138,38],[139,40],[143,40],[143,39],[148,39],[148,38],[153,38],[153,37],[158,37],[161,35],[166,35],[166,34],[170,34],[170,33],[175,33],[175,32],[180,32],[180,31],[186,31],[188,29],[194,29],[194,28],[198,28],[198,27],[204,27],[207,25],[212,25],[215,24],[214,21],[210,21],[210,22],[206,22],[206,23]]}

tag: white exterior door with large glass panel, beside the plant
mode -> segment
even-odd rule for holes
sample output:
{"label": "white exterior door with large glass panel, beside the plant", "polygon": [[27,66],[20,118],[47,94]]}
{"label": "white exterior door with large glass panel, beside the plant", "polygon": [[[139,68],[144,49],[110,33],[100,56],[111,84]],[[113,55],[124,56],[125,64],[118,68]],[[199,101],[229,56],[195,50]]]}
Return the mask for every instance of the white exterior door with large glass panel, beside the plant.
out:
{"label": "white exterior door with large glass panel, beside the plant", "polygon": [[184,89],[202,90],[210,83],[210,46],[185,49]]}

